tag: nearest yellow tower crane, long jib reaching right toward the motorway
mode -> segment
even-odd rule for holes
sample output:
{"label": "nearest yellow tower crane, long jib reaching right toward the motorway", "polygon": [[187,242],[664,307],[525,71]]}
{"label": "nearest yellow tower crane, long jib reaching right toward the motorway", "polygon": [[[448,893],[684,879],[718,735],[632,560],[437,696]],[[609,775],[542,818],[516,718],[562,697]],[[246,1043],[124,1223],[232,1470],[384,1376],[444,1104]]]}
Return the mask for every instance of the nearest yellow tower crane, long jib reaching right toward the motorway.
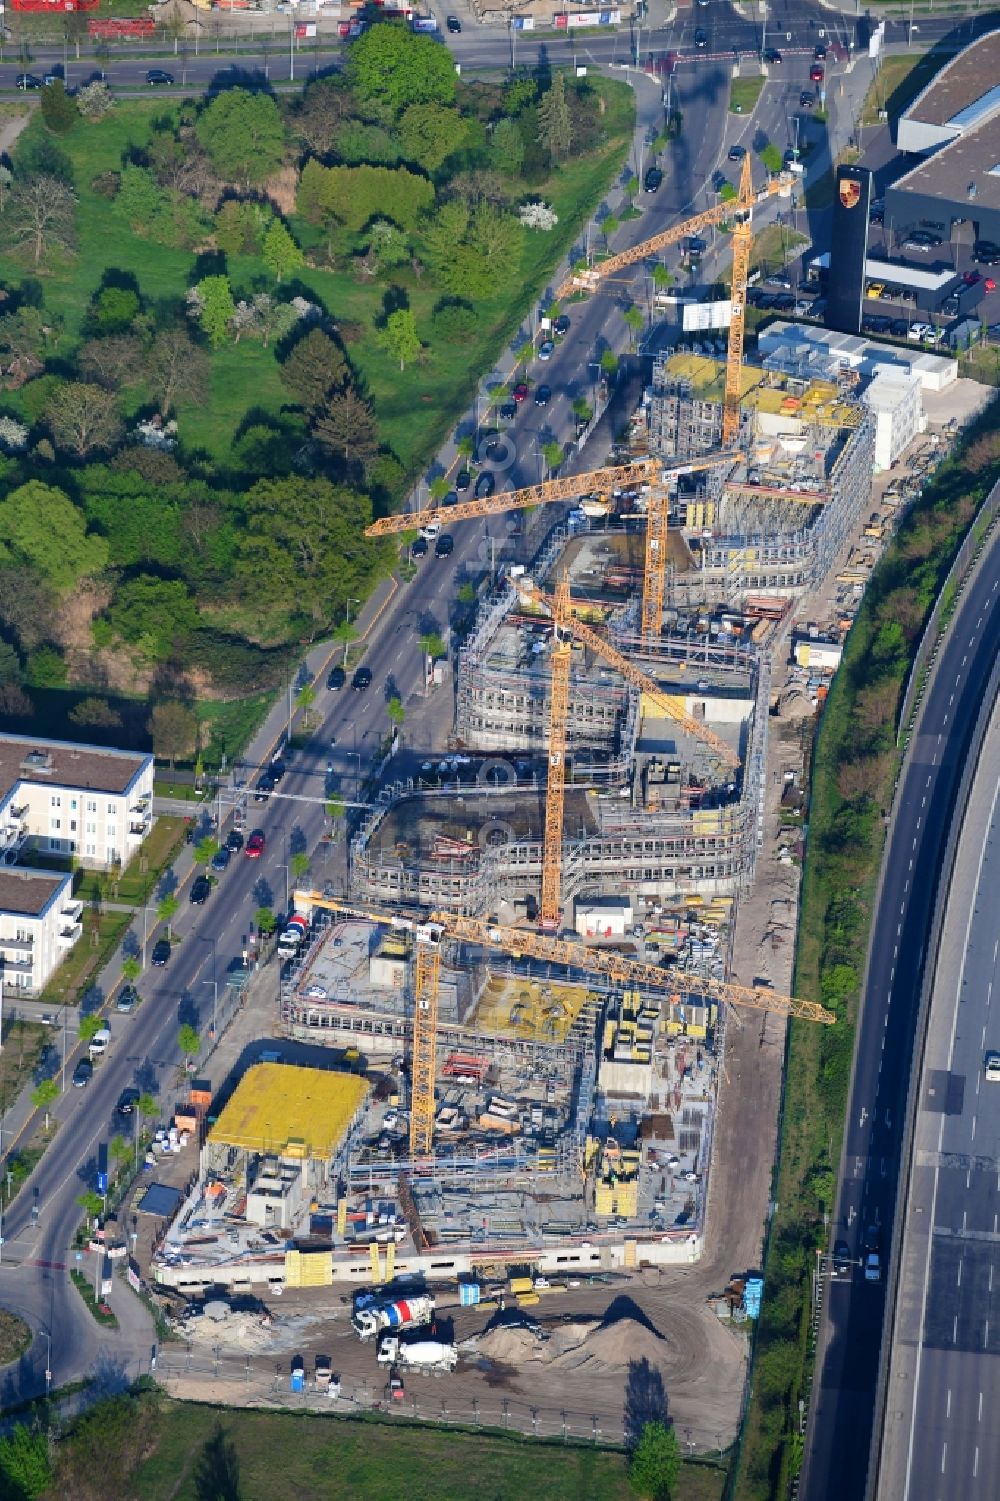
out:
{"label": "nearest yellow tower crane, long jib reaching right toward the motorway", "polygon": [[[413,1091],[410,1100],[410,1153],[426,1156],[434,1139],[434,1064],[437,1051],[437,991],[440,983],[440,946],[444,940],[476,944],[488,953],[505,953],[515,959],[523,956],[542,959],[592,974],[643,986],[659,992],[689,991],[721,1006],[749,1007],[769,1012],[773,1016],[830,1025],[836,1021],[817,1001],[800,1001],[791,995],[757,986],[731,985],[710,980],[701,974],[685,974],[664,970],[655,964],[643,964],[626,955],[605,949],[587,949],[583,943],[556,938],[532,929],[509,928],[480,917],[459,917],[455,913],[389,913],[378,908],[356,907],[339,898],[321,896],[318,892],[294,893],[296,911],[311,916],[315,908],[354,917],[360,922],[383,923],[396,931],[411,932],[416,940],[416,980],[413,1010]],[[423,952],[423,958],[420,958]],[[437,956],[437,958],[435,958]],[[419,1060],[419,1067],[417,1067]]]}

